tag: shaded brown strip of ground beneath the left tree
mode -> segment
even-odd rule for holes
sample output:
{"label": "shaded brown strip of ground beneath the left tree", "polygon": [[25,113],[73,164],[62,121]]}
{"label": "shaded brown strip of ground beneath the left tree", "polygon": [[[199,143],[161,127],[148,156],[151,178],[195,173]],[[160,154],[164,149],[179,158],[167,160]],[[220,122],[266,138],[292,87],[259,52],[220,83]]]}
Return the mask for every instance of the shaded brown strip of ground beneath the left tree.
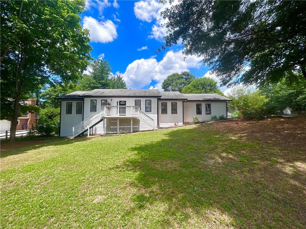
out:
{"label": "shaded brown strip of ground beneath the left tree", "polygon": [[75,142],[83,142],[83,141],[88,141],[88,140],[92,140],[92,138],[77,137],[74,139],[69,139],[69,138],[59,137],[55,139],[33,140],[33,141],[27,141],[27,142],[16,141],[14,142],[14,144],[20,144],[20,147],[5,148],[5,149],[2,149],[1,147],[0,158],[5,158],[8,156],[12,156],[12,155],[24,154],[30,150],[39,149],[41,147],[67,145],[67,144],[72,144]]}

